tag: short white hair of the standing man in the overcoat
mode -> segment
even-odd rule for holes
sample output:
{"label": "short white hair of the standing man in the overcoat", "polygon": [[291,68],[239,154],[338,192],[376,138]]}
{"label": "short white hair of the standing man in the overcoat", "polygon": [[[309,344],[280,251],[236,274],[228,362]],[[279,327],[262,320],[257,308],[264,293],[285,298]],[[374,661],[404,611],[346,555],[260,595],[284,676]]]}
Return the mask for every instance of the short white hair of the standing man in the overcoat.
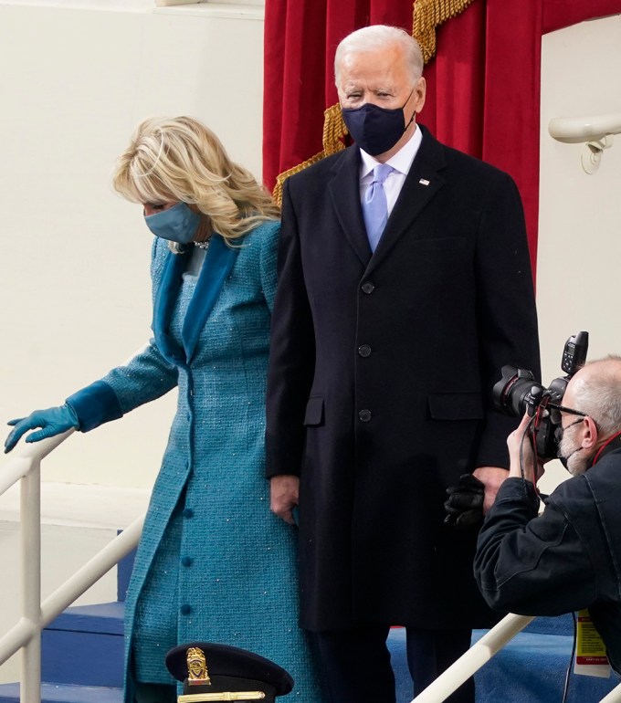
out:
{"label": "short white hair of the standing man in the overcoat", "polygon": [[405,63],[410,70],[412,82],[423,75],[423,54],[414,37],[398,26],[371,25],[356,29],[336,47],[334,54],[334,81],[338,87],[341,79],[341,62],[345,54],[369,51],[397,45],[402,48]]}

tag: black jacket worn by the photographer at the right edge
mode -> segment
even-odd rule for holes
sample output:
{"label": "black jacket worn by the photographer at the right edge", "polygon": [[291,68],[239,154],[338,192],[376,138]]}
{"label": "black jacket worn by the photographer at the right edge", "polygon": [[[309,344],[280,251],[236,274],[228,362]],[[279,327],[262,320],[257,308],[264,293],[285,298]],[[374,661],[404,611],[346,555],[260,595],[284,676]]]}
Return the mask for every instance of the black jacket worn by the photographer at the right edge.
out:
{"label": "black jacket worn by the photographer at the right edge", "polygon": [[[526,490],[525,490],[526,487]],[[560,615],[588,608],[621,672],[621,441],[544,500],[508,478],[479,534],[475,576],[493,608]]]}

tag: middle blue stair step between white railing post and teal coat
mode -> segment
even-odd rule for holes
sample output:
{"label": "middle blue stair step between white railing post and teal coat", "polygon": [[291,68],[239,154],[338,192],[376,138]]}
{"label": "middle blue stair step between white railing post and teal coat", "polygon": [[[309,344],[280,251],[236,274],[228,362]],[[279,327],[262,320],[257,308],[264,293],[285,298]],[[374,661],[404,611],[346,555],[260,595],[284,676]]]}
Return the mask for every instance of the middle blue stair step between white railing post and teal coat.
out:
{"label": "middle blue stair step between white railing post and teal coat", "polygon": [[58,615],[41,637],[43,680],[121,687],[123,613],[124,603],[100,603],[77,605]]}

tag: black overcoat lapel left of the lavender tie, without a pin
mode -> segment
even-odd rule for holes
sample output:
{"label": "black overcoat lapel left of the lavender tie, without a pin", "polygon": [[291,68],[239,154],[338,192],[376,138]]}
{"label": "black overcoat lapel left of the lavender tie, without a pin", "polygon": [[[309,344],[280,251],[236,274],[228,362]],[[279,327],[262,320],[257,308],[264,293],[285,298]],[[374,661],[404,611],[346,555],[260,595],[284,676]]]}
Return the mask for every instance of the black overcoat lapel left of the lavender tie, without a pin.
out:
{"label": "black overcoat lapel left of the lavender tie, without a pin", "polygon": [[363,266],[371,258],[371,247],[366,236],[363,210],[360,205],[360,152],[351,146],[342,152],[340,159],[332,169],[334,177],[328,184],[332,205],[342,230],[356,256]]}

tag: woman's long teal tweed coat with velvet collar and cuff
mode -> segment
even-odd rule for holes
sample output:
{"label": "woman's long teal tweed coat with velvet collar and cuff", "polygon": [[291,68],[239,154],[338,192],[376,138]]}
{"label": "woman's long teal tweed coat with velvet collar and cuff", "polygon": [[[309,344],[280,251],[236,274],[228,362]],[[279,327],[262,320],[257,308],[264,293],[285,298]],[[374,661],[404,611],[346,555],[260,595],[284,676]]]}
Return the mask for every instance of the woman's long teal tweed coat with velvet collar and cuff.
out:
{"label": "woman's long teal tweed coat with velvet collar and cuff", "polygon": [[283,700],[321,703],[298,627],[296,529],[270,512],[264,478],[278,236],[277,222],[236,248],[213,236],[198,278],[183,276],[190,252],[155,237],[153,340],[68,398],[89,430],[178,387],[127,595],[126,703],[136,679],[174,683],[164,655],[192,640],[267,656],[295,679]]}

